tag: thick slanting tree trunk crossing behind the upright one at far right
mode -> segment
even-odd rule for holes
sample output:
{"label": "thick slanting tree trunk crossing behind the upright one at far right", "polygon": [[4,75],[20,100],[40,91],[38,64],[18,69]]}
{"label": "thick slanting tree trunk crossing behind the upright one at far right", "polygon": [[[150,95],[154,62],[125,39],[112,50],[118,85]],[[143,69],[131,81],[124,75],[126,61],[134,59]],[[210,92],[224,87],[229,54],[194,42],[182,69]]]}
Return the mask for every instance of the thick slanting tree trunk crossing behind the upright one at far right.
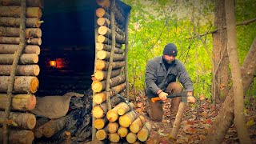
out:
{"label": "thick slanting tree trunk crossing behind the upright one at far right", "polygon": [[[256,62],[252,59],[256,58],[256,38],[250,46],[250,50],[246,55],[246,59],[242,64],[242,85],[243,92],[249,89],[251,82],[253,82],[254,74],[256,72]],[[213,125],[211,126],[204,143],[221,143],[229,130],[234,120],[234,99],[233,88],[229,91],[229,95],[223,102],[222,108],[219,111]],[[222,127],[222,129],[220,129]]]}

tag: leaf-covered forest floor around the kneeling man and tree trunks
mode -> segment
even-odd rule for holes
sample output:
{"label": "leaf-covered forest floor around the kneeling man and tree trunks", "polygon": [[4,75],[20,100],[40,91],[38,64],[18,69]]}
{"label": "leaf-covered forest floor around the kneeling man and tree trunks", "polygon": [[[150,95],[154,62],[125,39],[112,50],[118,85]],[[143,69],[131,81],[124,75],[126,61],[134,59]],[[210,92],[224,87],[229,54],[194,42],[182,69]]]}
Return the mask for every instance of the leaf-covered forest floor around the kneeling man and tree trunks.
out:
{"label": "leaf-covered forest floor around the kneeling man and tree trunks", "polygon": [[[137,101],[135,103],[136,110],[139,114],[146,116],[147,120],[152,124],[150,138],[148,138],[146,143],[202,143],[217,115],[216,112],[210,110],[210,102],[205,101],[201,105],[199,103],[187,105],[177,139],[174,140],[169,137],[172,130],[170,122],[151,121],[146,114],[145,98],[141,97],[139,99],[144,99],[144,101]],[[219,110],[220,107],[217,106],[216,110]],[[247,109],[245,110],[245,115],[251,141],[256,143],[256,112],[253,109]],[[239,143],[234,124],[230,126],[222,143]]]}

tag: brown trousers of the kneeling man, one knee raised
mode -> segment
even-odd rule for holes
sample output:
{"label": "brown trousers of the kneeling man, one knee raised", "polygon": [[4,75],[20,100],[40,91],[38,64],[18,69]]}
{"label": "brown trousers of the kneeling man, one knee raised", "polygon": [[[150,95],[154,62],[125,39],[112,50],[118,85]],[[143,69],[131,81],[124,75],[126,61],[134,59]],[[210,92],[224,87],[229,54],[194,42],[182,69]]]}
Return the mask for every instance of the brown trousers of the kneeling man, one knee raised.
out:
{"label": "brown trousers of the kneeling man, one knee raised", "polygon": [[[167,86],[166,92],[169,92],[170,94],[181,93],[182,86],[178,82],[171,82]],[[182,97],[171,98],[170,118],[175,119],[178,112],[178,106],[181,101]],[[148,104],[147,113],[150,115],[150,119],[161,122],[163,115],[162,101],[151,102],[151,99],[148,97]]]}

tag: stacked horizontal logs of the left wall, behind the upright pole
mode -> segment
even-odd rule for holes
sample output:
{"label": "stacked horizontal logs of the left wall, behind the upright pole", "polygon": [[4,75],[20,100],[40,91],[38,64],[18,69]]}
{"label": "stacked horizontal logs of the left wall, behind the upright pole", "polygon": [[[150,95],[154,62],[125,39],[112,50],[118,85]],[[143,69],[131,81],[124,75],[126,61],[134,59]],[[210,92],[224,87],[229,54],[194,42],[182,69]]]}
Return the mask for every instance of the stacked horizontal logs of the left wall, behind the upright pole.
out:
{"label": "stacked horizontal logs of the left wall, behind the upright pole", "polygon": [[[34,114],[24,113],[33,110],[36,106],[34,93],[38,90],[38,54],[42,43],[42,31],[40,18],[42,16],[42,0],[26,1],[26,47],[22,51],[21,58],[14,80],[14,95],[7,124],[18,127],[9,130],[10,143],[32,143],[36,118]],[[10,82],[10,72],[14,61],[14,53],[18,50],[20,42],[21,0],[0,1],[0,125],[3,122],[4,110],[7,102],[7,89]],[[20,112],[18,112],[20,110]],[[0,129],[0,141],[2,142],[2,129]],[[1,143],[0,142],[0,143]]]}

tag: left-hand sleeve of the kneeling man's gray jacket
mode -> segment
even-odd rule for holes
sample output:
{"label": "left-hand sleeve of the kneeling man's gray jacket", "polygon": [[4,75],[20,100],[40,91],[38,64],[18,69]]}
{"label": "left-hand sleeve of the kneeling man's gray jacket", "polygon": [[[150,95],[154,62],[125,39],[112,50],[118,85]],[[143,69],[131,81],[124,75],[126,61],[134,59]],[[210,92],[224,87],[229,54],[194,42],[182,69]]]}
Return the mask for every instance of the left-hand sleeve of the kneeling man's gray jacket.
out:
{"label": "left-hand sleeve of the kneeling man's gray jacket", "polygon": [[152,93],[157,94],[160,88],[155,84],[157,80],[157,67],[155,62],[149,61],[146,63],[146,74],[145,74],[145,83],[146,88]]}

